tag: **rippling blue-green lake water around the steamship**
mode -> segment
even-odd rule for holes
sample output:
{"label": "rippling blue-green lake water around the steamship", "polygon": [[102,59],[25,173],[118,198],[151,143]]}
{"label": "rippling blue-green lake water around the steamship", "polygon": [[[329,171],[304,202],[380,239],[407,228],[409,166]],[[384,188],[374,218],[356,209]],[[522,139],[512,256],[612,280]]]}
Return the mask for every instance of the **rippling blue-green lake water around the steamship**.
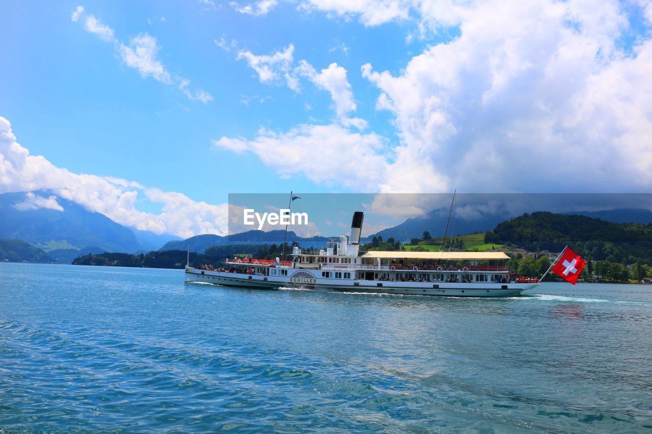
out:
{"label": "rippling blue-green lake water around the steamship", "polygon": [[652,286],[264,291],[0,264],[0,431],[652,429]]}

